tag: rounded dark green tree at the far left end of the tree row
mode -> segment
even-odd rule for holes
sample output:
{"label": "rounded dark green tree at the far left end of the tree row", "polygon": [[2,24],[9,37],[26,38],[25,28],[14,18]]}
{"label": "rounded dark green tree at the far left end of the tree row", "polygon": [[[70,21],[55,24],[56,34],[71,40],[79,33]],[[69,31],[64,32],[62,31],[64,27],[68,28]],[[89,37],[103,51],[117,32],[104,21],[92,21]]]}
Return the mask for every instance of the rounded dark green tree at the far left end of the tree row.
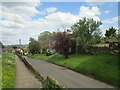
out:
{"label": "rounded dark green tree at the far left end of the tree row", "polygon": [[29,41],[30,41],[28,46],[29,51],[32,54],[39,53],[40,52],[39,43],[34,38],[30,38]]}

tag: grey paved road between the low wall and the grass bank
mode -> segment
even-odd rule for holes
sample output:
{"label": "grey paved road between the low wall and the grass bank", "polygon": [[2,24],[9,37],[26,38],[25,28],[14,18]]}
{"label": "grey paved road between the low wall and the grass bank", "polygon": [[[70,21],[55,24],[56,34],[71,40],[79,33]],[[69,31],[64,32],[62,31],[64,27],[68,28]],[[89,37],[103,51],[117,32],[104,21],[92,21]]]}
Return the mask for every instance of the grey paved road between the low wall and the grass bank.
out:
{"label": "grey paved road between the low wall and the grass bank", "polygon": [[44,77],[51,75],[67,88],[113,88],[110,85],[52,63],[25,57]]}

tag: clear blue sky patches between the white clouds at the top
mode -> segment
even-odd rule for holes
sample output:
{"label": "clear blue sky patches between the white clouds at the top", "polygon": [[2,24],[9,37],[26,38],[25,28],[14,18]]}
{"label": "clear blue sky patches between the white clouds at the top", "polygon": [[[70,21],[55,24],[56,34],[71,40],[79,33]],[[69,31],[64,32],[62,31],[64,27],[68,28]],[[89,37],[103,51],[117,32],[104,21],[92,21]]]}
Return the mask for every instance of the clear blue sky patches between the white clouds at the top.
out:
{"label": "clear blue sky patches between the white clouds at the top", "polygon": [[[118,3],[117,2],[104,2],[102,4],[97,5],[89,5],[86,2],[42,2],[42,4],[36,7],[37,10],[44,10],[45,8],[56,7],[59,12],[69,12],[74,15],[79,13],[79,9],[81,6],[86,7],[98,7],[101,15],[99,15],[100,20],[110,19],[118,16]],[[105,11],[109,11],[109,13],[105,13]],[[44,18],[48,14],[36,15],[33,19],[38,19],[39,17]]]}

